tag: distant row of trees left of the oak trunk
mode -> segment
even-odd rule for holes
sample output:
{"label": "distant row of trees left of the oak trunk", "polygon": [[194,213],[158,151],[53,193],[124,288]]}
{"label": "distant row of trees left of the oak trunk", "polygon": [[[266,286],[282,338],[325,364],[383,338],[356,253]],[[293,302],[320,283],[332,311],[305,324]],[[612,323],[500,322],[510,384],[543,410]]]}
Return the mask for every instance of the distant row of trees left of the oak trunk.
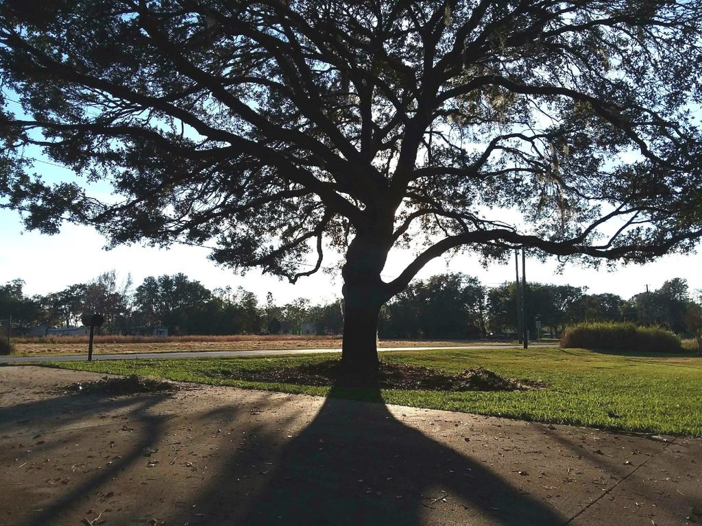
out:
{"label": "distant row of trees left of the oak trunk", "polygon": [[104,334],[150,334],[159,327],[171,335],[300,334],[305,323],[317,332],[340,333],[343,325],[338,302],[312,306],[298,298],[280,305],[269,292],[260,304],[244,288],[209,290],[185,274],[149,276],[134,288],[130,276],[119,282],[115,271],[107,271],[87,283],[31,297],[24,285],[15,279],[0,286],[0,321],[11,317],[16,333],[74,327],[84,312],[102,313]]}

